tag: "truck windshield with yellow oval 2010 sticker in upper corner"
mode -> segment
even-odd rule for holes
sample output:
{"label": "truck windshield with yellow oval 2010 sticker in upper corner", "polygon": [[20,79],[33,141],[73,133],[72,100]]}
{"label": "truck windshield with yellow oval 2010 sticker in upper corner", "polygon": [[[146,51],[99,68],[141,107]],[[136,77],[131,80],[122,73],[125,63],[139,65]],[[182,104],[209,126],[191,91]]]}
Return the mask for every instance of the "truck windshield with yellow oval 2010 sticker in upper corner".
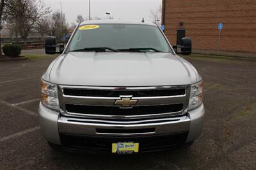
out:
{"label": "truck windshield with yellow oval 2010 sticker in upper corner", "polygon": [[170,52],[157,26],[139,24],[82,25],[69,46],[70,51],[96,48],[116,51]]}

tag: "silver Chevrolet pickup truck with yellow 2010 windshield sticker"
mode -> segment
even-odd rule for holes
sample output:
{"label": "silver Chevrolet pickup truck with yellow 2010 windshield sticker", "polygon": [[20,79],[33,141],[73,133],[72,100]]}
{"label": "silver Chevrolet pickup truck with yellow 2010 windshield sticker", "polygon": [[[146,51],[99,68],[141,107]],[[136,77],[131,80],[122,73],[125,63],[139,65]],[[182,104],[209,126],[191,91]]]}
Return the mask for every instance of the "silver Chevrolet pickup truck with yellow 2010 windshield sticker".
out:
{"label": "silver Chevrolet pickup truck with yellow 2010 windshield sticker", "polygon": [[[81,22],[42,76],[42,134],[52,148],[102,153],[145,153],[186,147],[204,123],[202,77],[147,22]],[[179,49],[179,50],[178,50]]]}

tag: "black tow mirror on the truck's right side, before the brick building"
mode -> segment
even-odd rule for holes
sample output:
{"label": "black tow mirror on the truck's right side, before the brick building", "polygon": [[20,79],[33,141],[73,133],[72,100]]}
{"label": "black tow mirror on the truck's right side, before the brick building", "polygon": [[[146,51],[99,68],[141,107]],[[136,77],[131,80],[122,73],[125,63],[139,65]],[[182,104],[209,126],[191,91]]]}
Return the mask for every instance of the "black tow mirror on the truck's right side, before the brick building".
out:
{"label": "black tow mirror on the truck's right side, before the brick building", "polygon": [[[192,52],[192,43],[190,38],[182,38],[181,45],[173,45],[172,47],[176,54],[190,55]],[[178,48],[180,48],[179,52]]]}

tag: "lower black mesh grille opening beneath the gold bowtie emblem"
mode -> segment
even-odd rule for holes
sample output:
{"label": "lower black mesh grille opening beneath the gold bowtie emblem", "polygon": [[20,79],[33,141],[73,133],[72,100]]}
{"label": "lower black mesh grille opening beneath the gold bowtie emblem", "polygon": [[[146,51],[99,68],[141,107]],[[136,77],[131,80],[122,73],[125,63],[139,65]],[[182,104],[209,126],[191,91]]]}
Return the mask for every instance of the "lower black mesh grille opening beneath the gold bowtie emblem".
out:
{"label": "lower black mesh grille opening beneath the gold bowtie emblem", "polygon": [[147,105],[135,106],[131,109],[122,109],[120,107],[111,106],[95,106],[95,105],[74,105],[67,104],[67,112],[81,113],[81,114],[106,114],[118,116],[131,116],[143,114],[161,114],[166,112],[180,112],[182,111],[183,104],[170,104],[170,105]]}

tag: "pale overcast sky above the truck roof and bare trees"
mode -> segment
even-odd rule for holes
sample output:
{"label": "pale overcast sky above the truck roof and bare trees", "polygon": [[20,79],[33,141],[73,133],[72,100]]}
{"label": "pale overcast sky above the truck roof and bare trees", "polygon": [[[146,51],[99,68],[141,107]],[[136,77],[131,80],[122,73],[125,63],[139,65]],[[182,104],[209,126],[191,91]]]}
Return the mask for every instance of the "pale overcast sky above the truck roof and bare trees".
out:
{"label": "pale overcast sky above the truck roof and bare trees", "polygon": [[[61,3],[60,3],[61,2]],[[76,22],[77,15],[89,16],[89,0],[45,0],[53,11],[65,13],[69,23]],[[107,19],[106,12],[114,19],[152,21],[150,10],[156,10],[162,0],[91,0],[91,16]]]}

